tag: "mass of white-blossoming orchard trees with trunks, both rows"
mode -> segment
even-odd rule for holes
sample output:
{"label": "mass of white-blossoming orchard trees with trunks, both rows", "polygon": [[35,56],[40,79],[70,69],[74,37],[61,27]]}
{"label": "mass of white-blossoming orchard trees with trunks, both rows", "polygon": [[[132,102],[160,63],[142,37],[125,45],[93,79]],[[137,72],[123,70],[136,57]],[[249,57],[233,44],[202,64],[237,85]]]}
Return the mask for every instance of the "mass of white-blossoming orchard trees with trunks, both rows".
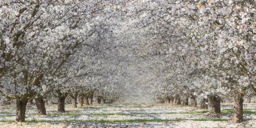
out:
{"label": "mass of white-blossoming orchard trees with trunks, both rows", "polygon": [[0,9],[0,95],[16,99],[17,121],[30,99],[46,114],[54,96],[64,112],[67,96],[73,107],[93,96],[112,103],[130,81],[159,102],[209,101],[216,114],[232,94],[235,123],[255,95],[253,0],[9,0]]}

